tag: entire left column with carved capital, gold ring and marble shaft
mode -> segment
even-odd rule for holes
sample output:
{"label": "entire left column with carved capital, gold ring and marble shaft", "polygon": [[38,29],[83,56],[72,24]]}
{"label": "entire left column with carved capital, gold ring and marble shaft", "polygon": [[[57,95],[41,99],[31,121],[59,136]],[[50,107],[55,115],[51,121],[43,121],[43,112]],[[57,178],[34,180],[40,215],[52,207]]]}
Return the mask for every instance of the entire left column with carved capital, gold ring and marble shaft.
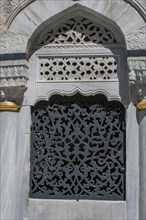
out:
{"label": "entire left column with carved capital, gold ring and marble shaft", "polygon": [[[0,219],[17,219],[17,155],[19,111],[23,103],[28,62],[26,60],[3,60],[0,63]],[[21,219],[21,218],[19,218]]]}

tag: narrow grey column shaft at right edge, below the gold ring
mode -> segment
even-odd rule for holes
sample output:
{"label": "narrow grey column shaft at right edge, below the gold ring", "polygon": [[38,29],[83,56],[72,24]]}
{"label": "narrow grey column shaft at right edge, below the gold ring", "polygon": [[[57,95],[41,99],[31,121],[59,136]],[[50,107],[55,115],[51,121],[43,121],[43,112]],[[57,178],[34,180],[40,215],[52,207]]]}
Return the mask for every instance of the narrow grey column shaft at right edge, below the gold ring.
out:
{"label": "narrow grey column shaft at right edge, below the gold ring", "polygon": [[140,195],[139,219],[146,219],[146,109],[139,111]]}

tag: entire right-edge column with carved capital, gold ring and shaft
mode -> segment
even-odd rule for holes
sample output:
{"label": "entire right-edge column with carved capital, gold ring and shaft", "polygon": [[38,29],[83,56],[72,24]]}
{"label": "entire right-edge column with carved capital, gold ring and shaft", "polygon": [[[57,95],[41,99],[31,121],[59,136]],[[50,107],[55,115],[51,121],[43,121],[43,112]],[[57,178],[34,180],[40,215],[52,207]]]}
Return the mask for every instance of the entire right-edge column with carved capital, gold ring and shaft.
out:
{"label": "entire right-edge column with carved capital, gold ring and shaft", "polygon": [[139,219],[146,219],[146,57],[129,58],[131,100],[139,123]]}

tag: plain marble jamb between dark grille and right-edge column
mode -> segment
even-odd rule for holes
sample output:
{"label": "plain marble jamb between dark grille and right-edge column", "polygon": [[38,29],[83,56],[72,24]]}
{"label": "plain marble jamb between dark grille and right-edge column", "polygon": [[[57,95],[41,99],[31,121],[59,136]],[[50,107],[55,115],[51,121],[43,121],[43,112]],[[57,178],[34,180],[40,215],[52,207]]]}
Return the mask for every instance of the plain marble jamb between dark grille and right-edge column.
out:
{"label": "plain marble jamb between dark grille and right-edge column", "polygon": [[126,201],[127,219],[139,219],[139,125],[137,109],[131,103],[126,117]]}

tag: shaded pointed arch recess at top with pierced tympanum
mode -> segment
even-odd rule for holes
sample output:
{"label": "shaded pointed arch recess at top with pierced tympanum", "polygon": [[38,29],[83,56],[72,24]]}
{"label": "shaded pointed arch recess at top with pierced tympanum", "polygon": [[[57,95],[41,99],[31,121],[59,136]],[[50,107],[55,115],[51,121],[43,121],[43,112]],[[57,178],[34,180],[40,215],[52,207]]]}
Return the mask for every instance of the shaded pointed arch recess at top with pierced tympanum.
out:
{"label": "shaded pointed arch recess at top with pierced tympanum", "polygon": [[[80,24],[77,24],[78,22]],[[78,28],[79,25],[80,28]],[[92,30],[92,28],[94,28],[94,30]],[[72,29],[76,29],[76,32],[80,32],[84,35],[88,35],[89,31],[92,32],[92,36],[90,37],[90,42],[92,43],[96,42],[96,44],[104,44],[105,47],[115,43],[117,44],[117,48],[119,46],[126,46],[124,34],[115,22],[94,11],[93,9],[87,8],[80,4],[75,4],[61,11],[60,13],[57,13],[53,17],[48,18],[36,28],[28,41],[27,53],[31,55],[34,51],[40,49],[42,46],[52,43],[53,38],[56,38],[57,35],[66,34],[66,32]],[[100,41],[100,39],[98,39],[99,35],[97,35],[95,32],[106,32],[106,37],[108,37],[108,40]],[[49,35],[51,35],[51,39],[45,40]],[[95,40],[95,38],[97,39]],[[42,43],[42,41],[44,41],[44,43]],[[66,42],[62,43],[65,44]],[[80,44],[80,42],[74,42],[73,44],[75,43]]]}

